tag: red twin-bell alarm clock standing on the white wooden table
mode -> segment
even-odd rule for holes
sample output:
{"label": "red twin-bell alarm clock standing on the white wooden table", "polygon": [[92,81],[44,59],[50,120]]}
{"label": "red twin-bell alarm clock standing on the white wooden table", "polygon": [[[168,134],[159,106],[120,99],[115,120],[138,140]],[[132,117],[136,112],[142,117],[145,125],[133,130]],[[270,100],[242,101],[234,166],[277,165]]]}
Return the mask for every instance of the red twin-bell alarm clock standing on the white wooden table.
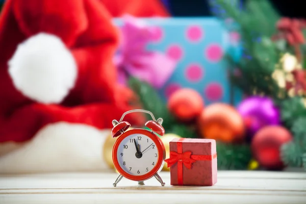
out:
{"label": "red twin-bell alarm clock standing on the white wooden table", "polygon": [[[129,122],[122,121],[129,113],[143,112],[152,117],[145,123],[150,130],[132,129]],[[162,170],[166,157],[165,146],[162,140],[155,134],[163,136],[165,134],[162,126],[163,119],[154,118],[154,115],[146,110],[136,109],[125,112],[119,122],[113,120],[112,136],[118,137],[113,146],[113,162],[120,175],[117,177],[114,187],[124,176],[126,179],[137,181],[143,185],[143,181],[155,176],[156,179],[165,185],[158,173]]]}

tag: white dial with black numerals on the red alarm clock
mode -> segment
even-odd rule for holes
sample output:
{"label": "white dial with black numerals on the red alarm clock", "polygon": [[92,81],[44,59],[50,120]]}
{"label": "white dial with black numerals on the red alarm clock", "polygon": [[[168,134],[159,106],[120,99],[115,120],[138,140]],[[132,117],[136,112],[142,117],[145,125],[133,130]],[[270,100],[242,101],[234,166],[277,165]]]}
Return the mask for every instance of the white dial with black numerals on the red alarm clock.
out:
{"label": "white dial with black numerals on the red alarm clock", "polygon": [[[137,153],[134,139],[139,145],[140,154]],[[127,136],[119,144],[117,150],[117,160],[120,167],[132,175],[144,175],[150,172],[156,166],[158,158],[156,143],[142,134]]]}

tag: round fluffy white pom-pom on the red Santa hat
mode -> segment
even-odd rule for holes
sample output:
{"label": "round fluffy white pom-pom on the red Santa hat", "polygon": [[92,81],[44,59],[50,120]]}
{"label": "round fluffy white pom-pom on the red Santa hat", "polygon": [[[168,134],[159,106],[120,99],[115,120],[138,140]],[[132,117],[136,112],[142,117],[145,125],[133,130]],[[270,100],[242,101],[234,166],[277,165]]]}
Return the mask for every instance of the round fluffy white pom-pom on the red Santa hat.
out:
{"label": "round fluffy white pom-pom on the red Santa hat", "polygon": [[61,39],[40,33],[18,45],[9,74],[16,89],[40,103],[60,103],[74,86],[77,64]]}

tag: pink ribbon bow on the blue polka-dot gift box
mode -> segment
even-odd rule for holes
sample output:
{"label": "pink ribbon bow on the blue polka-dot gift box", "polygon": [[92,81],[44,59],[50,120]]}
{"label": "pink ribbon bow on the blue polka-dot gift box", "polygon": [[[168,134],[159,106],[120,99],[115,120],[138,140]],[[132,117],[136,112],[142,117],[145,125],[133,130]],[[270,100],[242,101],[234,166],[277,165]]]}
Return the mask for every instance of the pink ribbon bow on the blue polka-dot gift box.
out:
{"label": "pink ribbon bow on the blue polka-dot gift box", "polygon": [[132,75],[154,88],[161,88],[170,78],[176,62],[163,53],[146,49],[156,32],[155,28],[130,15],[122,19],[121,44],[119,54],[115,56],[119,82],[125,84]]}

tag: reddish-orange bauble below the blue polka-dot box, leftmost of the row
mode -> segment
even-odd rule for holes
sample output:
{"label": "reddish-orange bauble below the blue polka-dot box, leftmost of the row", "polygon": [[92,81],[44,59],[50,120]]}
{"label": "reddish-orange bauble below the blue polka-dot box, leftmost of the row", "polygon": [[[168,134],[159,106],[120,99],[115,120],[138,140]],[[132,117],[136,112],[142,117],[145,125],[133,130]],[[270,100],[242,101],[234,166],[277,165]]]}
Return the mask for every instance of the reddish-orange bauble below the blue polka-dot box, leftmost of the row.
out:
{"label": "reddish-orange bauble below the blue polka-dot box, leftmost of the row", "polygon": [[204,107],[200,94],[189,88],[183,88],[170,95],[168,100],[169,111],[180,120],[196,118]]}

